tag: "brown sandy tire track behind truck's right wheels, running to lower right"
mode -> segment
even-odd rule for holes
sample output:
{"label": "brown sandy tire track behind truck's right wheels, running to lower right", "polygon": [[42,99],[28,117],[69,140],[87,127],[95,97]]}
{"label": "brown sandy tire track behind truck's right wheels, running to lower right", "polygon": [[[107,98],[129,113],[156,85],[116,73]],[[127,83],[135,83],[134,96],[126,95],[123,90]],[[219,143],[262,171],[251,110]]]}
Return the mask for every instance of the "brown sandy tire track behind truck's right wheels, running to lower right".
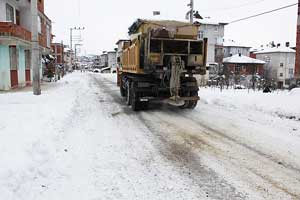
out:
{"label": "brown sandy tire track behind truck's right wheels, running to lower right", "polygon": [[[222,132],[207,127],[201,122],[195,122],[190,116],[186,116],[187,112],[180,111],[180,113],[185,116],[185,120],[179,116],[179,111],[176,112],[176,109],[165,110],[165,113],[153,112],[157,118],[157,122],[165,123],[169,128],[173,128],[174,135],[180,135],[185,143],[198,149],[200,153],[201,151],[209,152],[215,157],[220,157],[224,162],[230,161],[233,166],[239,166],[241,168],[239,170],[250,171],[251,174],[267,182],[270,188],[273,187],[277,192],[286,194],[282,195],[285,198],[289,196],[292,199],[300,199],[300,176],[298,168],[281,163],[275,158]],[[180,120],[175,120],[173,119],[174,117],[168,118],[168,116],[174,116],[174,114],[179,116],[178,118],[180,118],[182,123],[177,123]],[[257,161],[262,164],[256,165]],[[243,176],[245,175],[243,174]],[[257,185],[255,182],[252,184]],[[267,190],[267,187],[262,188]],[[273,194],[275,193],[273,191]]]}

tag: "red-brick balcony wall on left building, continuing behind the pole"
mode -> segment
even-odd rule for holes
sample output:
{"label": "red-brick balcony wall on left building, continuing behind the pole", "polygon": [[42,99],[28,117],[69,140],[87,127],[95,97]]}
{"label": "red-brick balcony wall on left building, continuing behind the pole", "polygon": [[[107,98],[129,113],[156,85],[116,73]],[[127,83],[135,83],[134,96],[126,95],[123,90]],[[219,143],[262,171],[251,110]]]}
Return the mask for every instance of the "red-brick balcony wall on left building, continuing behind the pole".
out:
{"label": "red-brick balcony wall on left building, continuing behind the pole", "polygon": [[[0,22],[1,36],[16,37],[31,42],[31,32],[12,22]],[[39,44],[42,47],[49,48],[47,47],[47,36],[45,34],[39,34]]]}

